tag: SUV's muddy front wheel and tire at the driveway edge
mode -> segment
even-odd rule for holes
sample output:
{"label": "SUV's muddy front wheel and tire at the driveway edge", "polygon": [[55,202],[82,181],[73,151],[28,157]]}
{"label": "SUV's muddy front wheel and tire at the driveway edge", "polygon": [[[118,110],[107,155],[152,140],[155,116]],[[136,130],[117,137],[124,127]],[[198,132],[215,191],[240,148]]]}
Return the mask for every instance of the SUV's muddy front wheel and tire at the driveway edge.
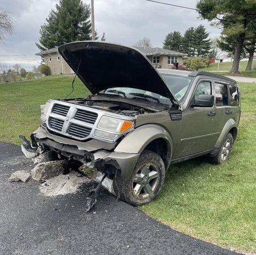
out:
{"label": "SUV's muddy front wheel and tire at the driveway edge", "polygon": [[[129,180],[115,175],[113,186],[121,200],[133,205],[143,205],[154,200],[165,181],[165,164],[156,153],[145,150],[141,153]],[[150,190],[151,188],[151,190]]]}

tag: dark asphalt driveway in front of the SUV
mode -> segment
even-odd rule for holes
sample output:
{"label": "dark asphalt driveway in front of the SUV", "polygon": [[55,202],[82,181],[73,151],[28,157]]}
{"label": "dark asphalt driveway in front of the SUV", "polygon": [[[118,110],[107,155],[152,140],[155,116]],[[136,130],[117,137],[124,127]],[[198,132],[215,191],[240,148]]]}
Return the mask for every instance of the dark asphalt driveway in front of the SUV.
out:
{"label": "dark asphalt driveway in front of the SUV", "polygon": [[40,183],[7,182],[32,168],[20,148],[0,143],[0,254],[235,254],[179,233],[102,191],[84,213],[86,192],[45,197]]}

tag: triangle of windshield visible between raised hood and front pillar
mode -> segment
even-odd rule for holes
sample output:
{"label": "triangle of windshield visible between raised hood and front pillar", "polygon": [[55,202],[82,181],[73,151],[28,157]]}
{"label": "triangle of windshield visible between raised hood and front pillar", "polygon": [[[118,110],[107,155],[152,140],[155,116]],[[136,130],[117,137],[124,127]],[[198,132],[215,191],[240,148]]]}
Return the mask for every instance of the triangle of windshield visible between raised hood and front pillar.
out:
{"label": "triangle of windshield visible between raised hood and front pillar", "polygon": [[176,96],[180,103],[185,99],[192,78],[188,76],[160,73],[167,83],[168,89]]}

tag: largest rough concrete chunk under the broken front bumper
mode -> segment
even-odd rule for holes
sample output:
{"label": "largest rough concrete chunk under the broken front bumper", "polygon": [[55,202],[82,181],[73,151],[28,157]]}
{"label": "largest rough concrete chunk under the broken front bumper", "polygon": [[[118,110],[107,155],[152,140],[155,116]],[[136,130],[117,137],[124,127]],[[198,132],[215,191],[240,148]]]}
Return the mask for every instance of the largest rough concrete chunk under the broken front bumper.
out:
{"label": "largest rough concrete chunk under the broken front bumper", "polygon": [[39,163],[31,170],[32,179],[41,182],[55,177],[64,172],[66,165],[66,160]]}

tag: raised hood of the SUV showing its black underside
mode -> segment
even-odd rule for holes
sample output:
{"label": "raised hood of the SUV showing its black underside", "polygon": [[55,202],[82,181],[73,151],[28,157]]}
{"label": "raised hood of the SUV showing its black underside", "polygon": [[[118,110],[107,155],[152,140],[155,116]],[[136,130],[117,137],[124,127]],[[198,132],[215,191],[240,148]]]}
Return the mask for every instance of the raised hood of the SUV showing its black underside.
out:
{"label": "raised hood of the SUV showing its black underside", "polygon": [[61,45],[58,51],[92,94],[127,87],[158,93],[177,102],[148,58],[135,48],[79,41]]}

